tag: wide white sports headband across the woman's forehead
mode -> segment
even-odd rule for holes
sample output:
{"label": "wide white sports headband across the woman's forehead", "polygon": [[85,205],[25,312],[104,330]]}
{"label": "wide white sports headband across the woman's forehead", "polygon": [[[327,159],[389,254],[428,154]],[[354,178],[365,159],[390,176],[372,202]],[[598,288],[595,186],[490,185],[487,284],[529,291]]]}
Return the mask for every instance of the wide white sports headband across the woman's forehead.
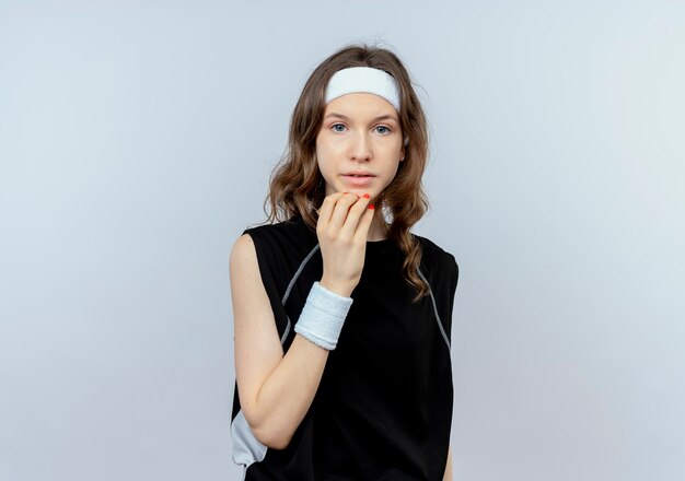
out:
{"label": "wide white sports headband across the woman's forehead", "polygon": [[399,112],[399,86],[387,72],[371,67],[350,67],[333,74],[326,86],[326,104],[352,93],[374,94],[390,102]]}

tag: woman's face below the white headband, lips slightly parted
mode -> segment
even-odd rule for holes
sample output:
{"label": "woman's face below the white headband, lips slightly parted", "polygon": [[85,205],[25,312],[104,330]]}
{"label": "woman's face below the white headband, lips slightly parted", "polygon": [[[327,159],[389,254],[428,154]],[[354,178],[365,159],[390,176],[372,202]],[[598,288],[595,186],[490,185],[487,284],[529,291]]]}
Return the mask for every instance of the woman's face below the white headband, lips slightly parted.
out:
{"label": "woman's face below the white headband, lips slightly parted", "polygon": [[334,192],[369,193],[375,202],[404,160],[403,134],[395,107],[365,93],[332,101],[316,136],[316,160]]}

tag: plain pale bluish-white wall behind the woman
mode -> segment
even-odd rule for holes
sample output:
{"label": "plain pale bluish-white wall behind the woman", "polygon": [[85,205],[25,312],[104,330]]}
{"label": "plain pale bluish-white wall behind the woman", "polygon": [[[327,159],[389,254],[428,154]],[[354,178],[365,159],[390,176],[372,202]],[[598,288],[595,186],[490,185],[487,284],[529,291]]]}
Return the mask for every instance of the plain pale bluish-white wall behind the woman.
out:
{"label": "plain pale bluish-white wall behind the woman", "polygon": [[237,480],[227,256],[311,70],[423,87],[455,479],[685,477],[685,4],[0,1],[0,479]]}

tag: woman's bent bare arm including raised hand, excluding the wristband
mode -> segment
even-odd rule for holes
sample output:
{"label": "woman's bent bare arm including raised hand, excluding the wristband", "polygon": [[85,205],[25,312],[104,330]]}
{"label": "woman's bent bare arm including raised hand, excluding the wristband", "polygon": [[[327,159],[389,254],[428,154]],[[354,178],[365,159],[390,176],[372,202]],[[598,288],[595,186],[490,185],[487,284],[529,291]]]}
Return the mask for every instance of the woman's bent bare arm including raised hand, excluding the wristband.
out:
{"label": "woman's bent bare arm including raised hand, excluding the wristband", "polygon": [[[373,216],[368,199],[336,193],[324,201],[317,235],[324,257],[322,285],[349,296],[363,267]],[[237,239],[230,259],[235,326],[235,377],[241,407],[255,437],[285,448],[306,414],[328,351],[297,335],[286,354],[262,283],[252,238]]]}

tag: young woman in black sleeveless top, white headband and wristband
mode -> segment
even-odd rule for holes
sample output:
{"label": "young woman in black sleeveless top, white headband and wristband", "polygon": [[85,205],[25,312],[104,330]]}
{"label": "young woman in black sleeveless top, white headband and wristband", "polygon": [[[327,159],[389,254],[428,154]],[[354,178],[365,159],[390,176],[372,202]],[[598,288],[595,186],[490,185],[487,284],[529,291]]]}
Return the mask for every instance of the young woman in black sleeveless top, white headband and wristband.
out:
{"label": "young woman in black sleeveless top, white headband and wristband", "polygon": [[233,459],[246,480],[451,480],[454,257],[428,207],[421,105],[388,50],[324,60],[231,254]]}

